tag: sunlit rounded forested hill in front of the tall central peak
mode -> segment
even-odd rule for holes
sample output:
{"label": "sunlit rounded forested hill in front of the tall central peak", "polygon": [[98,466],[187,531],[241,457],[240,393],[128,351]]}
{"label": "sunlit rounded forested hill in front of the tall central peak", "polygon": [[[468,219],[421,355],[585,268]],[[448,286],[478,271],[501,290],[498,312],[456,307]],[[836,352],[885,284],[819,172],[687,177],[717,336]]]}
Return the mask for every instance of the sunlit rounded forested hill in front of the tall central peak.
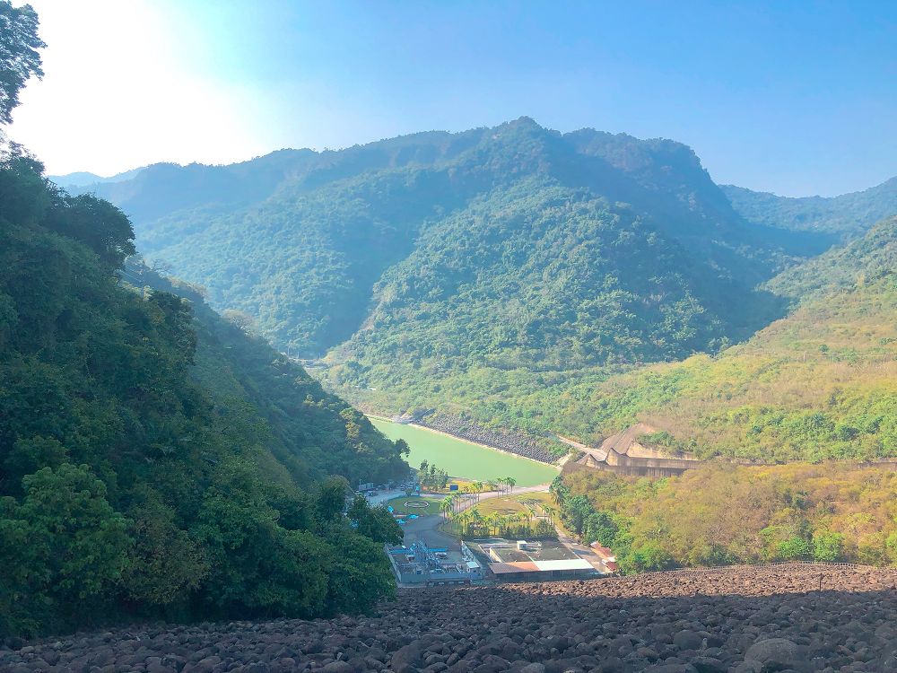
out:
{"label": "sunlit rounded forested hill in front of the tall central peak", "polygon": [[631,208],[538,176],[428,227],[374,296],[331,371],[374,388],[481,365],[671,360],[745,338],[780,308]]}

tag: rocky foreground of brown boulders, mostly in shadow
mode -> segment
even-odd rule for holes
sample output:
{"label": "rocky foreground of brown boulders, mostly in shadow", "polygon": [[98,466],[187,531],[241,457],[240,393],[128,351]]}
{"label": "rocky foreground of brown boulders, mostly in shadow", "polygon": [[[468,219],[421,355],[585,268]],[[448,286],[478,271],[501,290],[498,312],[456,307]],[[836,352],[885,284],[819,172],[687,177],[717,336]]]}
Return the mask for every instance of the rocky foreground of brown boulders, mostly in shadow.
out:
{"label": "rocky foreground of brown boulders, mostly in shadow", "polygon": [[8,671],[897,670],[897,571],[797,565],[405,590],[368,617],[119,629]]}

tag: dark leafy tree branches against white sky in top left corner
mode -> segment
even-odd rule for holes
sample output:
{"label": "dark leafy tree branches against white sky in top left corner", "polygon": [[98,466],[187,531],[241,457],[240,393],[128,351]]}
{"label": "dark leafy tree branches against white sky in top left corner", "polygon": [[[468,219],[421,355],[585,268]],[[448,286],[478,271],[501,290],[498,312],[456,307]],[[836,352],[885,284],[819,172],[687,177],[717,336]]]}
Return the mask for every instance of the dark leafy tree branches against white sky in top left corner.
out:
{"label": "dark leafy tree branches against white sky in top left corner", "polygon": [[25,83],[44,76],[38,49],[47,45],[38,37],[38,25],[30,4],[16,8],[0,0],[0,124],[12,123]]}

